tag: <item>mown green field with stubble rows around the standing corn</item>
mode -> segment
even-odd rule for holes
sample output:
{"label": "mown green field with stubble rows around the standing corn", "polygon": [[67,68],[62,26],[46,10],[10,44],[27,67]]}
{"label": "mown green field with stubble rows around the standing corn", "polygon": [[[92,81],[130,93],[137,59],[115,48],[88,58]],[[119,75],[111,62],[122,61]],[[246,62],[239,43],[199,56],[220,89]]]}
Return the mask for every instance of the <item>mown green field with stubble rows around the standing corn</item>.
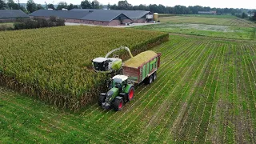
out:
{"label": "mown green field with stubble rows around the standing corn", "polygon": [[255,143],[256,42],[171,35],[158,80],[115,113],[79,114],[0,89],[0,142]]}

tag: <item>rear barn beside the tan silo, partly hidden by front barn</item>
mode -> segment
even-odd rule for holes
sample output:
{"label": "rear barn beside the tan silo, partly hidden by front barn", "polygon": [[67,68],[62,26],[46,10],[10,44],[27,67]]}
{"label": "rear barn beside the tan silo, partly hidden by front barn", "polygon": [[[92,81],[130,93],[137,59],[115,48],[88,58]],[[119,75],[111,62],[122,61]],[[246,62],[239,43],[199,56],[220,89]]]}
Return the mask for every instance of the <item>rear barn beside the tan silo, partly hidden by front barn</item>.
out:
{"label": "rear barn beside the tan silo, partly hidden by front barn", "polygon": [[[92,9],[73,9],[71,11],[91,11]],[[144,10],[97,10],[93,9],[98,14],[104,14],[106,12],[122,13],[133,20],[134,23],[144,23],[153,20],[153,13]]]}

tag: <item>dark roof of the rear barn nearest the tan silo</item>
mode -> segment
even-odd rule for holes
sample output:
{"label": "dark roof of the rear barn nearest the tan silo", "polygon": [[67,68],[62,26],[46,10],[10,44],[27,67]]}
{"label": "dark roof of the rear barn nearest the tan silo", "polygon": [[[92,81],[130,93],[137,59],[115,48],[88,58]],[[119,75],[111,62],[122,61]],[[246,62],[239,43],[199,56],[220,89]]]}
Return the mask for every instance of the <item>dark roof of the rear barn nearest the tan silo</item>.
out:
{"label": "dark roof of the rear barn nearest the tan silo", "polygon": [[139,19],[144,17],[146,14],[150,14],[150,11],[144,10],[98,10],[98,9],[73,9],[71,11],[94,11],[99,12],[101,14],[112,12],[112,13],[122,13],[125,14],[127,17],[132,19]]}

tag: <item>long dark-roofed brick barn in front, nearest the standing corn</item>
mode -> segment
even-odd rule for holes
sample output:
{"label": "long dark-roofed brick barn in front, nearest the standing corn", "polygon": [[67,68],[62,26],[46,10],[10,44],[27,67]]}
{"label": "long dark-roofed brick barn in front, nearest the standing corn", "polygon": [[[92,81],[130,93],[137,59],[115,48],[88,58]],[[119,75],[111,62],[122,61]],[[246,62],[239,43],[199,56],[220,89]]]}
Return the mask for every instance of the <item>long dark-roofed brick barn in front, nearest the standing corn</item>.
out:
{"label": "long dark-roofed brick barn in front, nearest the standing corn", "polygon": [[50,16],[63,18],[66,22],[101,26],[119,26],[132,22],[132,20],[127,17],[126,14],[108,10],[106,10],[104,13],[98,10],[38,10],[30,14],[30,18],[50,18]]}

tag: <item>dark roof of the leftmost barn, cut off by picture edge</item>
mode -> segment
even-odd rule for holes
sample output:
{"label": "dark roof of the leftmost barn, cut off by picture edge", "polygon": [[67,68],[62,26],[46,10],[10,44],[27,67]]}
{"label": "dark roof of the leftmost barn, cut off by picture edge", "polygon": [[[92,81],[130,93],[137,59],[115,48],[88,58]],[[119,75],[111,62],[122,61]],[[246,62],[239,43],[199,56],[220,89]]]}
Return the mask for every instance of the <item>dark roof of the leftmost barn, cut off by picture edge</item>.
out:
{"label": "dark roof of the leftmost barn, cut off by picture edge", "polygon": [[0,18],[29,18],[22,10],[0,10]]}

